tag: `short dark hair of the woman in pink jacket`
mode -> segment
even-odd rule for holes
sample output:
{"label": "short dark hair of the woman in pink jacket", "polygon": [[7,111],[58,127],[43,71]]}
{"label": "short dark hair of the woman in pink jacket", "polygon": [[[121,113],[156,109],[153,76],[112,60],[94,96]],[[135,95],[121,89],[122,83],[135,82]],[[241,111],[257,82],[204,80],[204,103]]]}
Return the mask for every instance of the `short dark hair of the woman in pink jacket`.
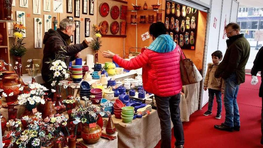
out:
{"label": "short dark hair of the woman in pink jacket", "polygon": [[162,22],[152,23],[149,28],[149,33],[155,38],[157,38],[161,34],[166,34],[165,25]]}

